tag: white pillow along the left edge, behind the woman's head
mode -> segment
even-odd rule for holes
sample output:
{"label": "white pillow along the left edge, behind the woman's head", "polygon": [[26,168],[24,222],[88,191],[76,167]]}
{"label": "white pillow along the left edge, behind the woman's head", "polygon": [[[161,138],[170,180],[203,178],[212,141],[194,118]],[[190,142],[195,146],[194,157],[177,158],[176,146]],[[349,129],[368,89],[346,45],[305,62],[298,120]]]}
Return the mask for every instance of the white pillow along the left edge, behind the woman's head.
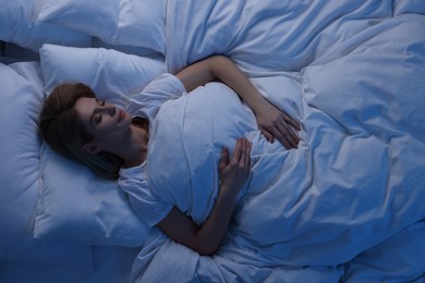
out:
{"label": "white pillow along the left edge, behind the woman's head", "polygon": [[0,260],[37,261],[92,270],[92,248],[69,241],[34,239],[42,77],[38,63],[0,63]]}

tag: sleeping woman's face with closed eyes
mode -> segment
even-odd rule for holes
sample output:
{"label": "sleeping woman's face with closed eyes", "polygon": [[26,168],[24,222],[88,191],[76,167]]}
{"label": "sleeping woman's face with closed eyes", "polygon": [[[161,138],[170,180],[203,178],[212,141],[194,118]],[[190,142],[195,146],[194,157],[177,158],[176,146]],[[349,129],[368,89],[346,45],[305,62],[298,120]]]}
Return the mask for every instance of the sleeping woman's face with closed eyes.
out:
{"label": "sleeping woman's face with closed eyes", "polygon": [[75,102],[75,110],[86,131],[94,136],[93,143],[101,150],[113,151],[129,138],[132,116],[122,109],[96,98],[82,97]]}

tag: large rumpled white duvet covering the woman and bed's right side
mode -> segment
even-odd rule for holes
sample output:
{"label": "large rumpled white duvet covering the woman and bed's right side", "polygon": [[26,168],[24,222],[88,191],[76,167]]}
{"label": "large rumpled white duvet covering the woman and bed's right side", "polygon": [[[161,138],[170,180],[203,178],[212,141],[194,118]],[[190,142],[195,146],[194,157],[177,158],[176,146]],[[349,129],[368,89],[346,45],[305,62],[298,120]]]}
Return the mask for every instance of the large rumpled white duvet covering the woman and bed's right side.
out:
{"label": "large rumpled white duvet covering the woman and bed's right side", "polygon": [[169,3],[169,69],[231,56],[302,123],[302,142],[295,150],[267,143],[252,112],[218,83],[167,102],[148,159],[163,199],[202,223],[217,196],[221,147],[242,135],[253,143],[252,180],[214,257],[154,230],[135,280],[417,279],[404,261],[376,257],[397,254],[409,266],[425,253],[425,16],[391,17],[394,9],[389,1]]}

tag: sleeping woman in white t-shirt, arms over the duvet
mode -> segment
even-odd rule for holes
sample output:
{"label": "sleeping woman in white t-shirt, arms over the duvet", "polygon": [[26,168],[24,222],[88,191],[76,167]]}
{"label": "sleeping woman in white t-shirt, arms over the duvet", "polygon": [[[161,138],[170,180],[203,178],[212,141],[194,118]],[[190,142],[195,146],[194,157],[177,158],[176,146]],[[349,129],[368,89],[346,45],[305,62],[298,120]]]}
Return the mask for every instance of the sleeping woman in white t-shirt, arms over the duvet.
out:
{"label": "sleeping woman in white t-shirt, arms over the duvet", "polygon": [[[224,236],[238,196],[247,183],[251,143],[238,138],[231,155],[228,148],[222,149],[218,197],[202,224],[150,189],[147,156],[149,134],[161,106],[214,79],[232,88],[250,107],[267,140],[278,139],[288,149],[298,147],[299,123],[270,104],[235,64],[221,56],[198,61],[175,76],[163,74],[142,94],[130,98],[125,110],[98,100],[83,84],[59,85],[45,102],[40,131],[57,152],[84,163],[102,177],[118,179],[146,224],[158,225],[168,236],[201,255],[210,255]],[[167,155],[167,149],[162,151]]]}

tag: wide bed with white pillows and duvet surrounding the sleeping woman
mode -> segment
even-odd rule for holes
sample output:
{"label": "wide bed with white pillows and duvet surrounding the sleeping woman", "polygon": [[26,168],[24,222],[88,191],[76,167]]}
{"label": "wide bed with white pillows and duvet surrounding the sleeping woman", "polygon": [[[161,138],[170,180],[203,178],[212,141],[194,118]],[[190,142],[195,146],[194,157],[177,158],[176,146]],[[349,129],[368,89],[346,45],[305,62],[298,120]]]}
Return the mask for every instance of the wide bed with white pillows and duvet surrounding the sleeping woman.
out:
{"label": "wide bed with white pillows and duvet surrounding the sleeping woman", "polygon": [[[0,282],[425,281],[424,1],[2,7]],[[266,142],[217,82],[161,108],[149,182],[197,223],[217,197],[220,148],[253,144],[251,183],[205,257],[148,229],[116,182],[52,152],[37,119],[62,82],[123,106],[211,54],[302,131],[298,149]]]}

